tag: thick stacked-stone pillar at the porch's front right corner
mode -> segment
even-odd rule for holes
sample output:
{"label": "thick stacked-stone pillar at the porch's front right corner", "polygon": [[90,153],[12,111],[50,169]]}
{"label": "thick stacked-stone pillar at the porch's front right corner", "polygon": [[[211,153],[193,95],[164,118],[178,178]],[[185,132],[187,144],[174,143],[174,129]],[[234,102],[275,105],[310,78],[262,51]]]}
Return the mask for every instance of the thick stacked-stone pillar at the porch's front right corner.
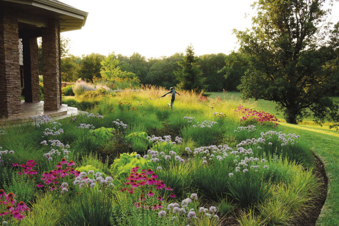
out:
{"label": "thick stacked-stone pillar at the porch's front right corner", "polygon": [[57,20],[50,20],[48,28],[42,30],[45,111],[56,111],[60,107],[59,35]]}

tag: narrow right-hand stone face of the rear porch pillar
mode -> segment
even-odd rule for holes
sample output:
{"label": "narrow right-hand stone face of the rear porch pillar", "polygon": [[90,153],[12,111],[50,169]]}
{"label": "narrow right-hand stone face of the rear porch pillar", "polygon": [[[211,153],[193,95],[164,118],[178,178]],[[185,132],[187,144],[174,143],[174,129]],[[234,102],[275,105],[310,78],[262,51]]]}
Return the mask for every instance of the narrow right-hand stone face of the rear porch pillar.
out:
{"label": "narrow right-hand stone face of the rear porch pillar", "polygon": [[32,102],[40,101],[38,48],[36,37],[30,38]]}

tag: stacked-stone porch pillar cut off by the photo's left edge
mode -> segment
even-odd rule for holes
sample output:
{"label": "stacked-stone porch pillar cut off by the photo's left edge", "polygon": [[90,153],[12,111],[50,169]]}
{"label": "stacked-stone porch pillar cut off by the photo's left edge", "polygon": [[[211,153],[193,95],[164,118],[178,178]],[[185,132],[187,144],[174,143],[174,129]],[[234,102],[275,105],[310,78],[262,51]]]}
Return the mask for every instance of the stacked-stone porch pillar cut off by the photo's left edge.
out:
{"label": "stacked-stone porch pillar cut off by the photo's left edge", "polygon": [[15,12],[0,9],[0,117],[21,115],[18,31]]}

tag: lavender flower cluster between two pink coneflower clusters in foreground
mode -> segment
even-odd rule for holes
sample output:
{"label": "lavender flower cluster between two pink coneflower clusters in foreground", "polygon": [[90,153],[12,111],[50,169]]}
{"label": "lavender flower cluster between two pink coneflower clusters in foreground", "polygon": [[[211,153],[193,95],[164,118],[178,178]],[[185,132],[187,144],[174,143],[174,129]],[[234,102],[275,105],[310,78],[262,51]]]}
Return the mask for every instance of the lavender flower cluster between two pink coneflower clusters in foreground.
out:
{"label": "lavender flower cluster between two pink coneflower clusters in foreground", "polygon": [[[91,175],[93,179],[90,178]],[[113,178],[108,176],[106,177],[106,179],[104,179],[102,175],[103,174],[100,172],[94,174],[93,170],[88,171],[88,173],[81,172],[79,176],[75,178],[73,184],[78,185],[79,188],[83,188],[86,186],[93,188],[96,187],[97,185],[100,185],[102,187],[107,186],[108,188],[114,188],[114,184],[112,183]]]}

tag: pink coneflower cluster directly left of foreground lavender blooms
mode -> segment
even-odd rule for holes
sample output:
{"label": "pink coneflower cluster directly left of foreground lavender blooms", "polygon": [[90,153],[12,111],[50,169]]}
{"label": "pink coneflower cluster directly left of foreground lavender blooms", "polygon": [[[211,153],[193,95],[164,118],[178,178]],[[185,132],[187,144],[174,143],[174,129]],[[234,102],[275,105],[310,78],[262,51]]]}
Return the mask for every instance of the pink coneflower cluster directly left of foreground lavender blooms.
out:
{"label": "pink coneflower cluster directly left of foreground lavender blooms", "polygon": [[[51,191],[58,189],[58,187],[55,186],[54,184],[58,184],[59,183],[58,180],[60,178],[67,177],[72,174],[75,177],[79,176],[80,171],[69,167],[69,166],[74,166],[74,165],[75,163],[73,161],[67,162],[64,158],[62,158],[62,161],[55,166],[56,167],[55,169],[49,170],[49,172],[43,173],[41,180],[44,181],[46,185],[53,184],[49,188]],[[68,166],[68,167],[64,167],[64,166]],[[44,185],[41,183],[37,184],[36,186],[39,188],[44,187]],[[62,189],[62,187],[60,187],[60,189]]]}

